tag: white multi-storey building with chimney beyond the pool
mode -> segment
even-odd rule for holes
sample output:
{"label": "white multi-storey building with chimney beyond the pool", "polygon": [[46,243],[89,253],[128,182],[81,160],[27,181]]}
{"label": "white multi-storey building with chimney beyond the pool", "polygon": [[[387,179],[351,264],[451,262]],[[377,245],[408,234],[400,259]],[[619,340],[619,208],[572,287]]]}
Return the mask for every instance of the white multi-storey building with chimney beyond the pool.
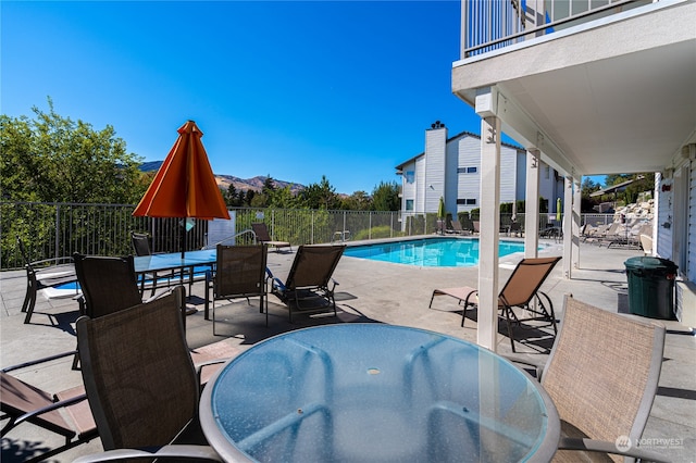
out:
{"label": "white multi-storey building with chimney beyond the pool", "polygon": [[[401,176],[401,216],[436,213],[439,198],[445,211],[456,216],[480,207],[481,136],[462,132],[449,137],[436,121],[425,130],[425,151],[396,166]],[[500,202],[525,199],[526,151],[514,145],[500,147]],[[563,177],[542,163],[539,197],[556,213],[556,199],[563,196]]]}

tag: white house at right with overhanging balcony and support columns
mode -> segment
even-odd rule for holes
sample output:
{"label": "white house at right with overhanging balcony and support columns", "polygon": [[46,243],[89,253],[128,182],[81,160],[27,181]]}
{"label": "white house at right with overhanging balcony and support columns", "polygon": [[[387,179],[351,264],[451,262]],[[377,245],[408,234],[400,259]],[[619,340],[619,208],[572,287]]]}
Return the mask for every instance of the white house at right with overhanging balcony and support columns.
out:
{"label": "white house at right with overhanging balcony and support columns", "polygon": [[[563,274],[579,267],[582,176],[655,172],[654,253],[679,266],[676,313],[696,326],[696,2],[461,1],[452,92],[481,116],[478,342],[495,349],[496,204],[505,133],[564,177]],[[526,214],[533,211],[527,202]],[[537,252],[526,221],[525,254]]]}

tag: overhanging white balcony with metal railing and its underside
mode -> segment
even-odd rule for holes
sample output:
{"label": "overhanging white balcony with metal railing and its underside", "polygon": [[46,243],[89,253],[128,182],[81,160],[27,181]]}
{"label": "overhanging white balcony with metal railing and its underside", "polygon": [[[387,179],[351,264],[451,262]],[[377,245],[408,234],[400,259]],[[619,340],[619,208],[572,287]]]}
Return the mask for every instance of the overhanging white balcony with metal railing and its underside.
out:
{"label": "overhanging white balcony with metal railing and its underside", "polygon": [[452,91],[566,175],[661,172],[694,137],[695,23],[685,1],[463,1]]}

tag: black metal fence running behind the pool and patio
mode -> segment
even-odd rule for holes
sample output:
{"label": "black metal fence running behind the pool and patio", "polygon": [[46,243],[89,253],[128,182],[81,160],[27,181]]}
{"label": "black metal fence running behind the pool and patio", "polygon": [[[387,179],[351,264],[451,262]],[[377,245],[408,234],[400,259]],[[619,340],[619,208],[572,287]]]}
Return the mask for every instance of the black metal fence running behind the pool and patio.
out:
{"label": "black metal fence running behind the pool and patio", "polygon": [[[94,255],[125,255],[133,253],[130,234],[148,233],[153,252],[177,252],[184,242],[183,218],[135,217],[133,204],[79,204],[0,202],[0,270],[24,266],[16,240],[22,239],[29,261],[70,256],[74,252]],[[401,213],[382,211],[326,211],[309,209],[254,209],[229,210],[225,242],[248,243],[253,235],[245,233],[254,222],[268,225],[275,240],[289,241],[294,246],[334,242],[345,239],[370,240],[402,236],[430,235],[437,230],[435,213]],[[612,221],[608,214],[583,214],[583,220],[597,224]],[[464,229],[473,229],[477,217],[459,213]],[[559,225],[556,215],[544,214],[539,229],[549,223]],[[515,214],[524,228],[524,214]],[[505,229],[512,222],[512,214],[500,214]],[[214,246],[209,229],[214,222],[196,220],[186,233],[185,249]]]}

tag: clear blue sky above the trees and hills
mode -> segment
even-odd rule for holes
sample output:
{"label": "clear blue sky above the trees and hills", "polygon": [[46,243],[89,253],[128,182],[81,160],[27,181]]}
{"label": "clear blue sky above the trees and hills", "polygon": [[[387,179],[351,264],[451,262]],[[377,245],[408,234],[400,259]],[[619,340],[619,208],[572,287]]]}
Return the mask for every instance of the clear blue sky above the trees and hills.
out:
{"label": "clear blue sky above the trees and hills", "polygon": [[337,192],[399,180],[436,120],[480,132],[451,93],[459,1],[5,1],[1,107],[55,111],[163,160],[194,120],[215,174]]}

